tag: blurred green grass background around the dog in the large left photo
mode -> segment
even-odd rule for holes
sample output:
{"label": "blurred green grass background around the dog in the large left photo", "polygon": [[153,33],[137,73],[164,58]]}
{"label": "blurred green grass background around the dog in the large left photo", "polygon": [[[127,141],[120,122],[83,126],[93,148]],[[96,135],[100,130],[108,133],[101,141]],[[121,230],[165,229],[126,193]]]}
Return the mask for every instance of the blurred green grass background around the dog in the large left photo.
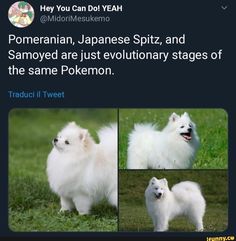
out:
{"label": "blurred green grass background around the dog in the large left photo", "polygon": [[112,109],[15,109],[9,114],[9,228],[13,231],[116,231],[117,211],[105,201],[92,215],[58,214],[49,189],[46,159],[51,140],[69,121],[96,130],[117,121]]}

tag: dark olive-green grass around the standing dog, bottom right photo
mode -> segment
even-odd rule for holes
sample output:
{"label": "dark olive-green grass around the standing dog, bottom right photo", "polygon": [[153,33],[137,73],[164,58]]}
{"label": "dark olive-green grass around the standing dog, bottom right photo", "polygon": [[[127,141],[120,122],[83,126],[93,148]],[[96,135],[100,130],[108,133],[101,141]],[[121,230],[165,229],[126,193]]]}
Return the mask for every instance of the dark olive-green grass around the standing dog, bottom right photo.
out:
{"label": "dark olive-green grass around the standing dog, bottom right photo", "polygon": [[[220,232],[228,224],[228,179],[226,170],[198,171],[125,171],[119,175],[119,230],[152,231],[153,224],[147,214],[144,191],[149,180],[167,178],[171,188],[180,181],[191,180],[201,185],[206,200],[204,231]],[[179,217],[169,223],[170,232],[191,232],[195,227],[186,218]]]}

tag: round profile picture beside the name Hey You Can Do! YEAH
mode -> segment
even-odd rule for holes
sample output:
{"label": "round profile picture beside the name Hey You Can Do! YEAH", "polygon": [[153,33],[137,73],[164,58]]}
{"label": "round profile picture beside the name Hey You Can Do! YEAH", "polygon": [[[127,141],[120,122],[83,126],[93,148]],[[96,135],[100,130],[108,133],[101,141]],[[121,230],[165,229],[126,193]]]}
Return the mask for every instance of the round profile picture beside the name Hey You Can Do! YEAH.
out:
{"label": "round profile picture beside the name Hey You Can Do! YEAH", "polygon": [[25,28],[34,20],[34,9],[27,2],[15,2],[8,10],[8,19],[15,27]]}

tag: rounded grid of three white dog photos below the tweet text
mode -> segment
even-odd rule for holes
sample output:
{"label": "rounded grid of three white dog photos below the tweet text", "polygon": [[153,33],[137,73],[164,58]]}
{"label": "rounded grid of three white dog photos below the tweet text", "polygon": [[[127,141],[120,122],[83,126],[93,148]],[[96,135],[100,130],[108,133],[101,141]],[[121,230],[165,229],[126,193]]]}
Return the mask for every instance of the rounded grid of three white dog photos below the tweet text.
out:
{"label": "rounded grid of three white dog photos below the tweet text", "polygon": [[223,232],[227,155],[223,109],[12,109],[9,229]]}

